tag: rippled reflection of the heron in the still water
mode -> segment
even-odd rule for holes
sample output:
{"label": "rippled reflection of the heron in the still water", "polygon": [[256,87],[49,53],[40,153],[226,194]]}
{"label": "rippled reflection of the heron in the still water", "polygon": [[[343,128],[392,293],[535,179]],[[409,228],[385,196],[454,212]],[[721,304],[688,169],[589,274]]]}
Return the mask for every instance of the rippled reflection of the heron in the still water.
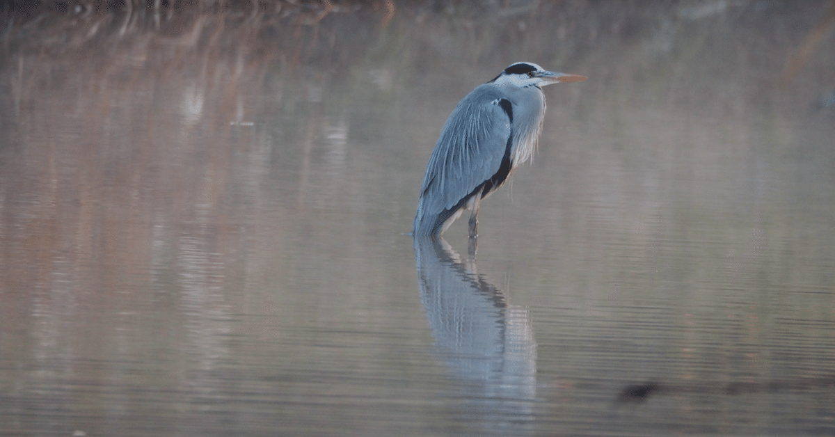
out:
{"label": "rippled reflection of the heron in the still water", "polygon": [[536,343],[528,312],[462,262],[441,237],[414,239],[421,302],[435,351],[463,383],[468,418],[498,434],[524,434],[533,420]]}

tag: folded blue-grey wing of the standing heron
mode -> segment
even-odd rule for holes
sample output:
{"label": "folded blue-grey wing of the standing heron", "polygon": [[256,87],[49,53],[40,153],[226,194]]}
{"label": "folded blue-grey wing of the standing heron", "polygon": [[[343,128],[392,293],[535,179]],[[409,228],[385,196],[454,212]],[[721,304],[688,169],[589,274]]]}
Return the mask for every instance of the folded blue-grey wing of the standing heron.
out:
{"label": "folded blue-grey wing of the standing heron", "polygon": [[492,84],[474,89],[450,114],[423,176],[416,235],[434,235],[509,160],[512,106]]}

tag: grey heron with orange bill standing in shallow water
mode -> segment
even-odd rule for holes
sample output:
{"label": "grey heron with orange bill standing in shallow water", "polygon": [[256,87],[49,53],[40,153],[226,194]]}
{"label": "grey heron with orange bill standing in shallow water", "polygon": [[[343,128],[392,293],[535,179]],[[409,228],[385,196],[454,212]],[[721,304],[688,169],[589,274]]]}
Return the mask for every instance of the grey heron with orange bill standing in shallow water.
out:
{"label": "grey heron with orange bill standing in shallow water", "polygon": [[478,236],[480,202],[534,155],[545,117],[541,87],[585,79],[519,62],[464,97],[429,158],[412,235],[441,235],[472,211],[469,236]]}

